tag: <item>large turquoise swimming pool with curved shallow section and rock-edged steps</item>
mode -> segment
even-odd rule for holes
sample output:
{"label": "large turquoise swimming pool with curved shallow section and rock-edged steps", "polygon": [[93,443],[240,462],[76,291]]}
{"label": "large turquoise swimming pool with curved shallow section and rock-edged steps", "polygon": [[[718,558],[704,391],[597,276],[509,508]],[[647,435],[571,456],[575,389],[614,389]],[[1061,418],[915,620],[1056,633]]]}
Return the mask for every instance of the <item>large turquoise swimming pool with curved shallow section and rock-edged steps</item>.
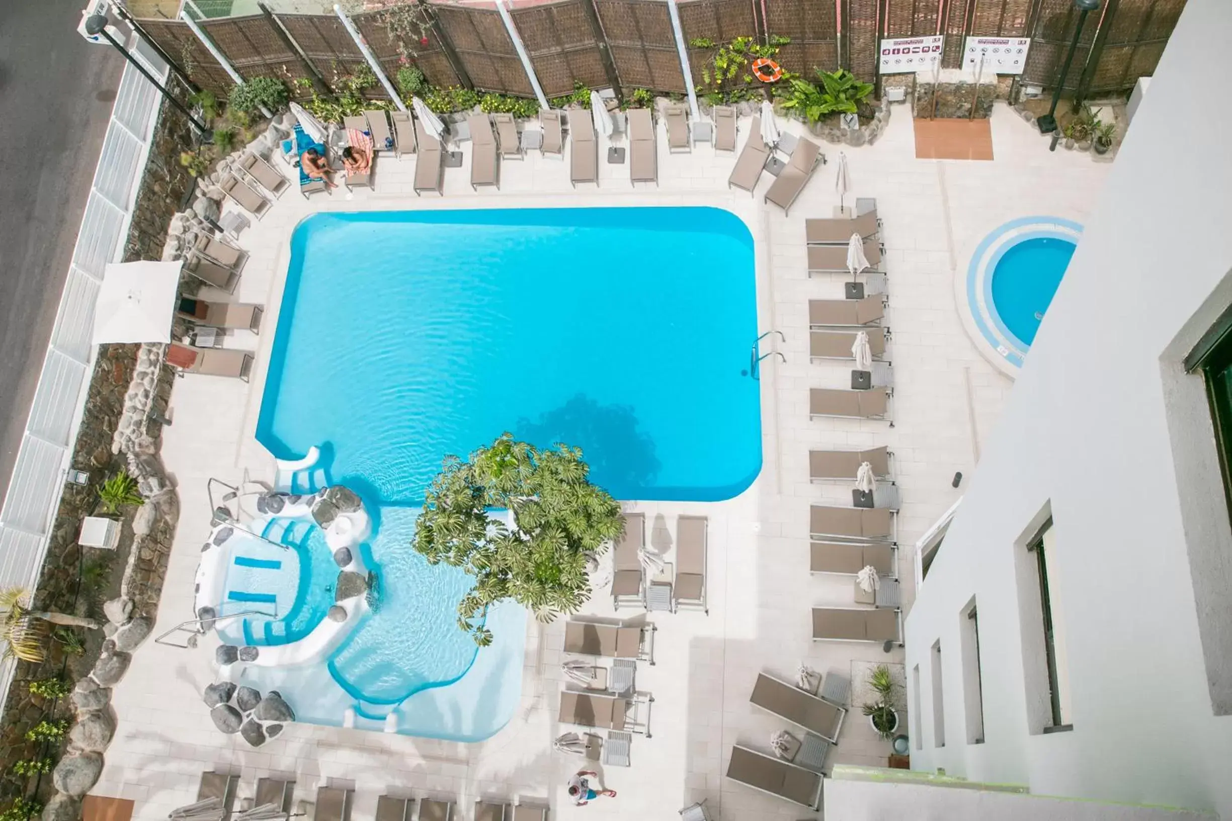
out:
{"label": "large turquoise swimming pool with curved shallow section and rock-edged steps", "polygon": [[[245,681],[298,720],[482,740],[517,705],[526,613],[489,612],[479,651],[457,629],[472,577],[410,548],[424,489],[445,455],[504,431],[582,447],[617,499],[747,489],[761,467],[752,236],[712,208],[373,212],[310,217],[291,250],[257,439],[280,458],[318,447],[324,478],[361,496],[379,590],[328,652]],[[338,575],[319,528],[266,535],[294,551],[298,587],[229,570],[281,611],[221,630],[257,649],[322,624]]]}

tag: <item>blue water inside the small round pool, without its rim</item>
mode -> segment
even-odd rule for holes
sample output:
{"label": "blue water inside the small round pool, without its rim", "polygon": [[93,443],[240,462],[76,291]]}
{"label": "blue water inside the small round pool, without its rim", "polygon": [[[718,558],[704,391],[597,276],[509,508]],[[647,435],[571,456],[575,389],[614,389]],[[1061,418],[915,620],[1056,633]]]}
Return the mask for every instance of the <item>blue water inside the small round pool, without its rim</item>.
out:
{"label": "blue water inside the small round pool, without its rim", "polygon": [[1077,246],[1055,236],[1010,245],[993,270],[992,298],[1005,327],[1030,346]]}

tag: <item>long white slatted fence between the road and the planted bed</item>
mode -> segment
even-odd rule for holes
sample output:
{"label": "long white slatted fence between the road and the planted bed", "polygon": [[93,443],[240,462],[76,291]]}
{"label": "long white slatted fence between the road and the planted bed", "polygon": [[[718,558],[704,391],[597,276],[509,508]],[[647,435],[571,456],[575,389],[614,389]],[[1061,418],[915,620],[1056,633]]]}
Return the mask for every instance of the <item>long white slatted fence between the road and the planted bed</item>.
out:
{"label": "long white slatted fence between the road and the planted bed", "polygon": [[[150,69],[155,76],[165,76],[166,66]],[[158,89],[126,65],[9,491],[0,506],[0,590],[33,590],[38,583],[94,370],[96,348],[90,340],[103,267],[123,254],[159,102]],[[12,672],[11,660],[0,665],[0,709]]]}

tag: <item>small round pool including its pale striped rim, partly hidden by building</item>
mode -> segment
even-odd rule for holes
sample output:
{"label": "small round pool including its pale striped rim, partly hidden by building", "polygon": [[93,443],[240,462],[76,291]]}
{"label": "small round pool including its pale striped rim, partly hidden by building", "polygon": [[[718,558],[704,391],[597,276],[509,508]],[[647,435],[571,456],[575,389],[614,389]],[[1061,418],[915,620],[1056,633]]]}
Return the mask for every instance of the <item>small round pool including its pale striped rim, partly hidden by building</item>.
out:
{"label": "small round pool including its pale striped rim, partly hidden by building", "polygon": [[1060,217],[1023,217],[988,234],[961,281],[968,332],[981,352],[1016,375],[1069,266],[1082,225]]}

